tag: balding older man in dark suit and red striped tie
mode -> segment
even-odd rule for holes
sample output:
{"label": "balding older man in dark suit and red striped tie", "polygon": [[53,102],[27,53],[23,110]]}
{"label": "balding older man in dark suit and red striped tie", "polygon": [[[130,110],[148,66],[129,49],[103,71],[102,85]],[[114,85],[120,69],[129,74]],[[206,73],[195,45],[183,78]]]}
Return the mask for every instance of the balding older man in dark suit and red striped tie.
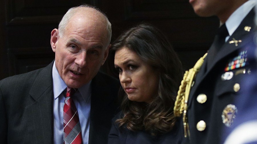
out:
{"label": "balding older man in dark suit and red striped tie", "polygon": [[87,5],[69,9],[51,32],[55,60],[0,81],[2,143],[107,143],[120,87],[98,72],[110,40],[103,13]]}

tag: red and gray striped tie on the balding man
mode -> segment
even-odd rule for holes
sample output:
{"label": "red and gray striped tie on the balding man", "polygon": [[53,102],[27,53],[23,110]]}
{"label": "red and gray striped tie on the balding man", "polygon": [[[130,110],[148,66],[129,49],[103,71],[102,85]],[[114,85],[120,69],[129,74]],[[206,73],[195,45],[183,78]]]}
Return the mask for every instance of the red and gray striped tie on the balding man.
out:
{"label": "red and gray striped tie on the balding man", "polygon": [[79,123],[79,114],[71,98],[77,89],[67,87],[66,99],[63,107],[63,139],[64,144],[81,144],[82,135]]}

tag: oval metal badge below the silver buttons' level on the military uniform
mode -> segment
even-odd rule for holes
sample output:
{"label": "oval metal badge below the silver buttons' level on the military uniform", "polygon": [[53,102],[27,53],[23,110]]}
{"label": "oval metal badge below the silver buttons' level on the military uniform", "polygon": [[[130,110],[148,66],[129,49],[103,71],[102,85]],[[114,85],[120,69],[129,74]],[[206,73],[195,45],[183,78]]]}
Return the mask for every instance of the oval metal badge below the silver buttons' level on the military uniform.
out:
{"label": "oval metal badge below the silver buttons' level on the military uniform", "polygon": [[233,123],[234,118],[236,118],[237,108],[233,104],[228,104],[222,112],[222,122],[225,126],[230,127]]}

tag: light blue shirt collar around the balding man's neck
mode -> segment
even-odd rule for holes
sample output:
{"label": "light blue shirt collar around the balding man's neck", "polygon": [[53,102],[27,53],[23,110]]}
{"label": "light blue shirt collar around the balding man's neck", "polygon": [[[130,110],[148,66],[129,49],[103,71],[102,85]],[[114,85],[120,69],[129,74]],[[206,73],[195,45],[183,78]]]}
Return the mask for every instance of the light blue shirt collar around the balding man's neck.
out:
{"label": "light blue shirt collar around the balding man's neck", "polygon": [[[53,93],[54,98],[56,99],[62,92],[67,88],[67,85],[63,81],[63,79],[60,77],[56,67],[55,67],[55,61],[53,64]],[[91,80],[92,81],[92,80]],[[82,95],[83,99],[86,101],[89,96],[91,96],[91,81],[89,83],[83,85],[82,87],[78,88],[80,94]]]}

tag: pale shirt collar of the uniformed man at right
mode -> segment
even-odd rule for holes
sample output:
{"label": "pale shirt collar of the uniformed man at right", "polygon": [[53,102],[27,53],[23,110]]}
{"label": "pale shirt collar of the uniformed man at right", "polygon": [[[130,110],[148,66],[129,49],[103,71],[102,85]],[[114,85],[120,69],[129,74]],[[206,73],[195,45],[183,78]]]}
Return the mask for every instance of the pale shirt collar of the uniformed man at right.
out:
{"label": "pale shirt collar of the uniformed man at right", "polygon": [[243,5],[241,5],[225,22],[228,29],[228,34],[231,36],[236,28],[240,25],[242,20],[246,15],[252,10],[252,8],[257,4],[256,0],[248,0]]}

